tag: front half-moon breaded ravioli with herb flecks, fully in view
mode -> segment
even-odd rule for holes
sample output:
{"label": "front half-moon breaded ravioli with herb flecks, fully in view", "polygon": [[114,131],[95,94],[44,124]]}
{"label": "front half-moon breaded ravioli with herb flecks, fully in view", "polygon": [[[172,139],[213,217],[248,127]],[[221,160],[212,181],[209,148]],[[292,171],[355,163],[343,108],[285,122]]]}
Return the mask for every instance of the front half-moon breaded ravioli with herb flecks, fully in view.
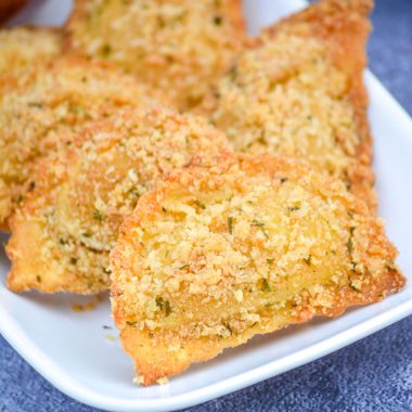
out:
{"label": "front half-moon breaded ravioli with herb flecks, fully in view", "polygon": [[256,334],[383,299],[404,284],[396,255],[339,180],[273,155],[205,159],[121,226],[113,313],[150,385]]}

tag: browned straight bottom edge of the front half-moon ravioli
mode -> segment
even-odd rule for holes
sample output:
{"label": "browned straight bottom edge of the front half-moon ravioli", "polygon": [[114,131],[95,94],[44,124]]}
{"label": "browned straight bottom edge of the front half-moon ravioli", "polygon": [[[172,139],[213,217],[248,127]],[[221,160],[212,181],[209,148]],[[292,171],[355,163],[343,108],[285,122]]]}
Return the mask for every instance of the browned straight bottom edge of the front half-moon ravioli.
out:
{"label": "browned straight bottom edge of the front half-moon ravioli", "polygon": [[[175,356],[167,350],[167,339],[164,336],[155,336],[156,350],[153,350],[153,339],[146,332],[140,332],[133,326],[125,326],[120,333],[120,339],[124,350],[134,360],[136,373],[144,379],[141,382],[144,386],[150,386],[158,379],[176,375],[185,371],[192,363],[208,361],[224,349],[234,348],[245,344],[256,335],[265,333],[273,333],[282,327],[287,327],[292,324],[300,324],[309,322],[314,317],[336,318],[343,314],[347,308],[351,306],[363,306],[377,302],[388,294],[399,292],[405,281],[399,272],[394,275],[391,272],[386,272],[374,284],[373,289],[364,295],[353,292],[351,288],[345,288],[334,295],[333,308],[325,310],[323,307],[313,307],[305,310],[301,309],[299,316],[291,319],[276,319],[272,323],[266,325],[266,331],[255,332],[249,330],[242,338],[231,338],[223,345],[216,340],[192,339],[184,342],[184,356]],[[119,313],[117,306],[114,304],[115,298],[112,298],[114,308],[114,317],[117,321]]]}

